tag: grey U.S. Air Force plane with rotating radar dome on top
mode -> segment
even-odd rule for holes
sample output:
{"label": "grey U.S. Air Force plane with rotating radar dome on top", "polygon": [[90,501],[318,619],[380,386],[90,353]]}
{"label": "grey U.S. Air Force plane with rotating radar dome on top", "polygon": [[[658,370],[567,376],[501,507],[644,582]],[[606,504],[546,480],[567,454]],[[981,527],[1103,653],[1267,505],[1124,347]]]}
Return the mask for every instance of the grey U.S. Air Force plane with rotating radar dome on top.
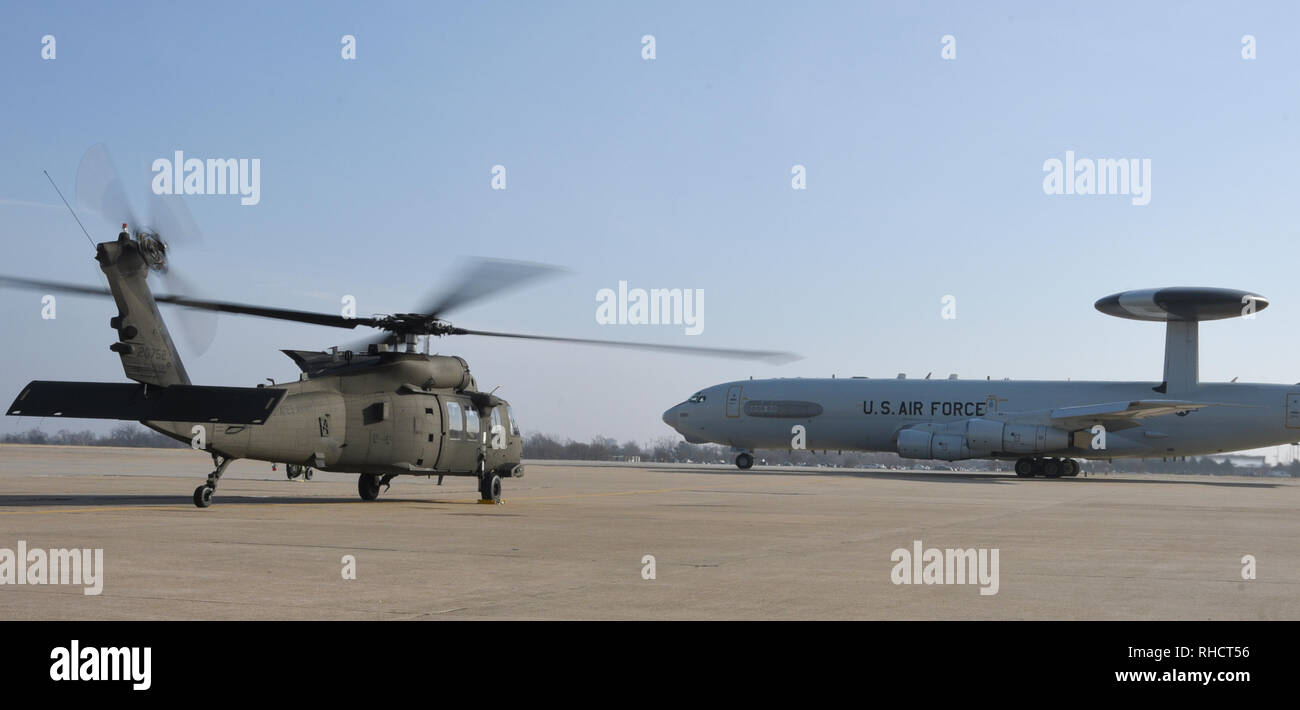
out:
{"label": "grey U.S. Air Force plane with rotating radar dome on top", "polygon": [[909,459],[1015,460],[1018,476],[1079,473],[1075,458],[1187,456],[1300,440],[1300,384],[1201,382],[1200,321],[1249,316],[1268,299],[1231,289],[1123,291],[1102,313],[1165,322],[1161,382],[742,380],[663,414],[692,443],[893,451]]}

